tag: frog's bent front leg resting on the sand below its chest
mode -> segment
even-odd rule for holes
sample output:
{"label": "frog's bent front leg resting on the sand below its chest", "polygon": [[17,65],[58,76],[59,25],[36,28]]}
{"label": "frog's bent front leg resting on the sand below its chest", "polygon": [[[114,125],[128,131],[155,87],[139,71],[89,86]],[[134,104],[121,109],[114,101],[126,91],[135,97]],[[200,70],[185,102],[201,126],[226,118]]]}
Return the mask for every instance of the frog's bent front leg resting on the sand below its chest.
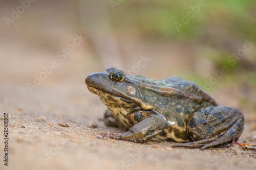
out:
{"label": "frog's bent front leg resting on the sand below its chest", "polygon": [[130,114],[130,122],[134,125],[126,133],[108,134],[112,139],[146,142],[160,134],[165,128],[165,120],[153,113],[137,111]]}

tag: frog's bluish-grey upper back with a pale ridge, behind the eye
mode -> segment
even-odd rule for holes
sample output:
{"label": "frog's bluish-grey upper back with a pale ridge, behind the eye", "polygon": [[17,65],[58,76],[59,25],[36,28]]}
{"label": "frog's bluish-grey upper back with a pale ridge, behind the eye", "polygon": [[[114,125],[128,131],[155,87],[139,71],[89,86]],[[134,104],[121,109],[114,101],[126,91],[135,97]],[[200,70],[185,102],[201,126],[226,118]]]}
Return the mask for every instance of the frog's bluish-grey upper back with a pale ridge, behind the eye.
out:
{"label": "frog's bluish-grey upper back with a pale ridge, behind the eye", "polygon": [[[201,89],[196,83],[184,80],[181,77],[169,77],[168,79],[162,80],[147,79],[143,76],[137,75],[129,75],[127,77],[133,80],[133,82],[137,82],[139,87],[143,87],[143,90],[140,90],[142,94],[141,96],[142,98],[148,98],[148,101],[153,99],[151,96],[152,93],[158,93],[157,95],[160,96],[160,98],[169,98],[167,99],[168,101],[176,100],[175,98],[183,100],[187,98],[188,101],[196,101],[197,104],[202,107],[218,105],[215,100],[212,99],[211,96]],[[147,97],[147,95],[150,96]],[[157,95],[155,95],[156,98],[154,101],[159,101]]]}

